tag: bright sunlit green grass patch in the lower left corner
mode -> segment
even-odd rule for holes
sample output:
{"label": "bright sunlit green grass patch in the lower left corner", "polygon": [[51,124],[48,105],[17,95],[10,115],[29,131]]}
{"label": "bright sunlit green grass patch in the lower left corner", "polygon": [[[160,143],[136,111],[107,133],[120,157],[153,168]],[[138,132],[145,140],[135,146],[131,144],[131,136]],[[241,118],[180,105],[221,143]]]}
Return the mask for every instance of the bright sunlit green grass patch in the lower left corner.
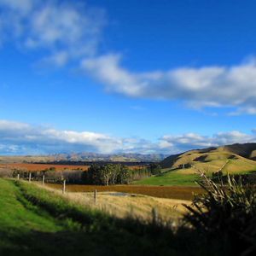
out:
{"label": "bright sunlit green grass patch in the lower left corner", "polygon": [[[33,206],[20,195],[14,183],[0,179],[0,252],[15,252],[20,247],[26,251],[29,247],[26,236],[33,232],[55,233],[63,230],[61,222],[49,216],[47,212],[38,214],[38,207]],[[35,247],[39,244],[30,239]],[[1,253],[1,254],[2,254]]]}

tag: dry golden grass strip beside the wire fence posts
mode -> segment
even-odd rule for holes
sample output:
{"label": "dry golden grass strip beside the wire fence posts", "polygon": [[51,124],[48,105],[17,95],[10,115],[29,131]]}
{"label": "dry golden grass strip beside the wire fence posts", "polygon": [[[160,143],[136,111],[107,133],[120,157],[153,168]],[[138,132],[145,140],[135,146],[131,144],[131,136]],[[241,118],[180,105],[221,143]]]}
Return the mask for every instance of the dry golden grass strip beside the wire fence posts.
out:
{"label": "dry golden grass strip beside the wire fence posts", "polygon": [[[40,187],[43,187],[40,185]],[[129,195],[117,192],[97,192],[96,203],[94,193],[67,192],[64,195],[60,189],[44,186],[53,193],[62,195],[70,201],[89,206],[107,212],[118,218],[140,218],[146,221],[152,220],[153,208],[158,212],[158,218],[164,222],[178,220],[187,210],[182,204],[190,204],[191,201],[156,198],[148,195]]]}

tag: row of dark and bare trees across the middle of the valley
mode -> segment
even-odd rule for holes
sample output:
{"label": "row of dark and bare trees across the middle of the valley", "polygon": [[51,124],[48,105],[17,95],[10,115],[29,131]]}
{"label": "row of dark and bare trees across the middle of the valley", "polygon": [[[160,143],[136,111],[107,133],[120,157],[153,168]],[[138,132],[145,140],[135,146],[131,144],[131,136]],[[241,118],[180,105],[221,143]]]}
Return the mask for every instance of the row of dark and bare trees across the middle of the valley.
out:
{"label": "row of dark and bare trees across the middle of the valley", "polygon": [[[25,170],[13,170],[12,176],[28,179],[30,172]],[[67,183],[84,183],[95,185],[114,185],[127,184],[134,180],[139,180],[144,177],[150,177],[160,173],[160,166],[150,164],[139,169],[129,169],[121,164],[93,164],[88,171],[83,170],[65,170],[56,171],[55,168],[48,170],[31,172],[32,180],[44,180],[47,183],[61,183],[64,179]]]}

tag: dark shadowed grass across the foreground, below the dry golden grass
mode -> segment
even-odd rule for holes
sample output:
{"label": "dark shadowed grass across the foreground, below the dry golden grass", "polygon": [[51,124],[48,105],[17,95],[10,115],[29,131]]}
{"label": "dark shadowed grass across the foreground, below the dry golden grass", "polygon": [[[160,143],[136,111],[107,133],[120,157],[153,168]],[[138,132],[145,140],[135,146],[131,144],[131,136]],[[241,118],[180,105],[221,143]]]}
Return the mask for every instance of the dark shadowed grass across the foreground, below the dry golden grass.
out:
{"label": "dark shadowed grass across the foreground, below the dry golden grass", "polygon": [[[53,218],[61,231],[49,232],[0,226],[0,255],[222,255],[203,246],[195,230],[173,231],[160,223],[145,224],[132,218],[113,218],[102,212],[82,211],[42,189],[15,183],[30,211]],[[46,193],[44,195],[44,192]],[[30,205],[31,204],[31,205]],[[207,245],[207,247],[206,247]]]}

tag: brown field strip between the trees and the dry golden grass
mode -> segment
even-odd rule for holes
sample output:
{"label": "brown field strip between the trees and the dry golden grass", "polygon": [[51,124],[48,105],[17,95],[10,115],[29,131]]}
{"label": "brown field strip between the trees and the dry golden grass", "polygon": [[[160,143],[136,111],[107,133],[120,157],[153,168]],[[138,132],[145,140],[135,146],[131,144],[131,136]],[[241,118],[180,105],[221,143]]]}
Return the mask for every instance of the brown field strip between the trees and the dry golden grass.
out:
{"label": "brown field strip between the trees and the dry golden grass", "polygon": [[[61,189],[61,184],[48,183],[53,189]],[[200,194],[202,189],[197,187],[183,186],[147,186],[147,185],[115,185],[115,186],[93,186],[93,185],[67,185],[67,192],[123,192],[129,194],[150,195],[160,198],[172,198],[178,200],[192,200],[193,194]]]}

